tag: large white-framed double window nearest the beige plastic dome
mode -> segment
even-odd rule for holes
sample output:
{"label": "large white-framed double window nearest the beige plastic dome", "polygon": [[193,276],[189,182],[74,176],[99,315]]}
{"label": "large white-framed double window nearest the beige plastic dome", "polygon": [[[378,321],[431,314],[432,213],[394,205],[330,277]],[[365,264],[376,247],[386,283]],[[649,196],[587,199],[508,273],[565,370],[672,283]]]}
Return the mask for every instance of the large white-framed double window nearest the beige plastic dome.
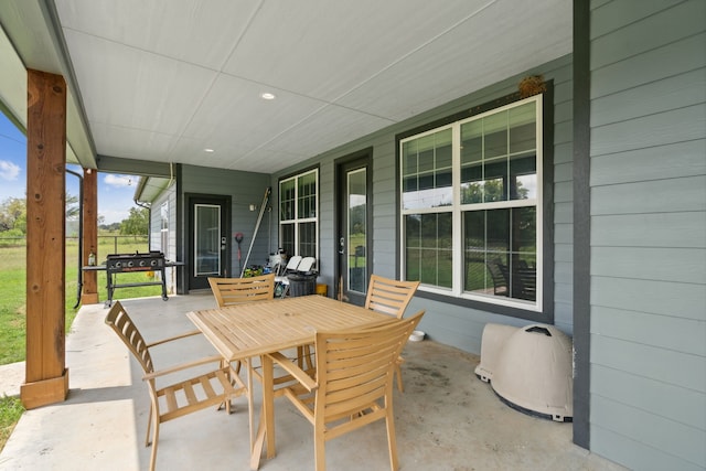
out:
{"label": "large white-framed double window nearest the beige plastic dome", "polygon": [[539,95],[400,140],[405,279],[542,311],[542,135]]}

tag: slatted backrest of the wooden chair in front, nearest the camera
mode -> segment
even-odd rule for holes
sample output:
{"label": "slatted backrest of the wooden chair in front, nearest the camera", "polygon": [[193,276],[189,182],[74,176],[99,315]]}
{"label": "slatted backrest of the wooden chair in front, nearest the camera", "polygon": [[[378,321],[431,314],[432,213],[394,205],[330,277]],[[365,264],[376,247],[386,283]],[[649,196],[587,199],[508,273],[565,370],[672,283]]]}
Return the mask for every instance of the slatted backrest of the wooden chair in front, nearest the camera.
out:
{"label": "slatted backrest of the wooden chair in front, nearest the camera", "polygon": [[318,332],[314,414],[325,424],[392,395],[395,363],[422,315],[373,329]]}

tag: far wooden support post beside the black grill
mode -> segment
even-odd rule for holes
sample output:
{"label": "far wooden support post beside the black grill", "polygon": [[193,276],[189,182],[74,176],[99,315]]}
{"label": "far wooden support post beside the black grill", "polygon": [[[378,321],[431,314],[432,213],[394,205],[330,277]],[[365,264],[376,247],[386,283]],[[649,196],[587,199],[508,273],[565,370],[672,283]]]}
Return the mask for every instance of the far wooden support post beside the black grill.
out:
{"label": "far wooden support post beside the black grill", "polygon": [[[97,260],[98,257],[98,172],[92,169],[84,169],[84,233],[82,237],[83,254],[82,264],[88,265],[88,255],[93,251]],[[81,295],[81,302],[84,304],[98,303],[98,272],[84,271],[84,286]]]}

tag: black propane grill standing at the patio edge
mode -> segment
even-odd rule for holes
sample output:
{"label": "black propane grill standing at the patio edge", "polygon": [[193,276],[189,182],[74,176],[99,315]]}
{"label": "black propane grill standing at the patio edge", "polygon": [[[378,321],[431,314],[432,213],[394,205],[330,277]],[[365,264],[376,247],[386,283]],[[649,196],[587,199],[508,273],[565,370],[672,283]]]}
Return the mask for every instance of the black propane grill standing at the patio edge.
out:
{"label": "black propane grill standing at the patio edge", "polygon": [[[138,286],[162,286],[162,299],[167,301],[167,277],[164,276],[164,254],[161,251],[149,251],[146,254],[110,254],[106,257],[106,271],[108,278],[108,300],[106,306],[113,304],[113,291],[116,288],[131,288]],[[128,274],[133,271],[159,271],[159,281],[142,281],[130,283],[116,283],[117,274]]]}

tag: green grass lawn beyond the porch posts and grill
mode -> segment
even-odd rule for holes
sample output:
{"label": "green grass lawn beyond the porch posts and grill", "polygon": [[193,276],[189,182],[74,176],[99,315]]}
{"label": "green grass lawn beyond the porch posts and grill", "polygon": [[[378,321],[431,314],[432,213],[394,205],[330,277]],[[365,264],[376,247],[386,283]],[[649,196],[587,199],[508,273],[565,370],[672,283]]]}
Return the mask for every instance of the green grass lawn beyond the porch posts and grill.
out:
{"label": "green grass lawn beyond the porch posts and grill", "polygon": [[[105,260],[107,254],[147,251],[147,237],[99,237],[98,261]],[[66,243],[66,332],[78,312],[74,309],[78,293],[78,245],[75,240]],[[21,246],[0,245],[0,364],[25,360],[25,286],[26,286],[26,250]],[[120,282],[148,281],[146,272],[121,274]],[[161,295],[160,286],[120,288],[116,291],[120,298],[140,298]],[[108,297],[106,291],[106,272],[98,271],[98,296],[101,301]]]}

